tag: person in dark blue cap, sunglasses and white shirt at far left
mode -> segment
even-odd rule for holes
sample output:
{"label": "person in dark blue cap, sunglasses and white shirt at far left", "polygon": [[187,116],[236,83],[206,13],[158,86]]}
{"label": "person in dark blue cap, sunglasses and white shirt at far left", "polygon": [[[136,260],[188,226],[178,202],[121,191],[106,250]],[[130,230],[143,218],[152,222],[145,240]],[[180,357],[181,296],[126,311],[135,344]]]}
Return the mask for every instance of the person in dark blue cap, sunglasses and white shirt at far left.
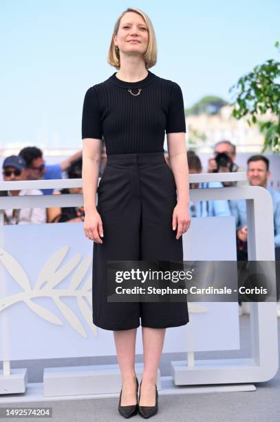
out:
{"label": "person in dark blue cap, sunglasses and white shirt at far left", "polygon": [[[26,163],[19,155],[6,157],[2,165],[3,181],[26,180]],[[8,196],[42,195],[39,189],[8,190]],[[46,222],[45,208],[22,208],[4,211],[4,224],[40,224]]]}

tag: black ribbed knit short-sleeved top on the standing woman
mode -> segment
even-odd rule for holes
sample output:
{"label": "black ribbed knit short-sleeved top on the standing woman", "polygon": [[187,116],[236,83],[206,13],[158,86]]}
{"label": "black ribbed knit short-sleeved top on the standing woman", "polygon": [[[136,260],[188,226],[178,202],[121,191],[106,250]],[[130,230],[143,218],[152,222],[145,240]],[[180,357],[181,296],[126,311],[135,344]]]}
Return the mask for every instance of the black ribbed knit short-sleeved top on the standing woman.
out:
{"label": "black ribbed knit short-sleeved top on the standing woman", "polygon": [[[142,91],[137,97],[129,93]],[[148,70],[142,81],[125,82],[116,72],[85,94],[82,139],[105,140],[106,153],[163,152],[164,132],[186,132],[182,90]]]}

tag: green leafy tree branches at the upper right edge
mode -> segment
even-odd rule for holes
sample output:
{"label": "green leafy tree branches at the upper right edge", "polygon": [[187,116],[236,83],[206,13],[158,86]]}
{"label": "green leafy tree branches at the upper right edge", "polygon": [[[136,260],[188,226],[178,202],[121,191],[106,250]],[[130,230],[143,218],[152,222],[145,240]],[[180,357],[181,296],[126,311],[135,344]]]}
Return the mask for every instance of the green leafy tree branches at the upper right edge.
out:
{"label": "green leafy tree branches at the upper right edge", "polygon": [[[279,42],[275,43],[279,48]],[[237,84],[230,88],[234,93],[232,105],[233,117],[241,119],[247,116],[248,124],[257,123],[265,136],[264,152],[280,152],[280,62],[270,59],[255,66],[252,72],[245,74]],[[272,112],[277,121],[258,121],[259,114]]]}

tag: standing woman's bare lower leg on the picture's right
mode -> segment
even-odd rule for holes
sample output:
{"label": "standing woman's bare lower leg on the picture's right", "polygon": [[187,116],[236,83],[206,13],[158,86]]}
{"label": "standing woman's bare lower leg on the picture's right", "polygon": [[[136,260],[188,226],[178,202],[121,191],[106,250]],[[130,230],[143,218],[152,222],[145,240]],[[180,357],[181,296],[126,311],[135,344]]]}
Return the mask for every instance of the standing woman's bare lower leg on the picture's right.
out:
{"label": "standing woman's bare lower leg on the picture's right", "polygon": [[155,384],[166,328],[142,327],[144,371],[140,406],[155,405]]}

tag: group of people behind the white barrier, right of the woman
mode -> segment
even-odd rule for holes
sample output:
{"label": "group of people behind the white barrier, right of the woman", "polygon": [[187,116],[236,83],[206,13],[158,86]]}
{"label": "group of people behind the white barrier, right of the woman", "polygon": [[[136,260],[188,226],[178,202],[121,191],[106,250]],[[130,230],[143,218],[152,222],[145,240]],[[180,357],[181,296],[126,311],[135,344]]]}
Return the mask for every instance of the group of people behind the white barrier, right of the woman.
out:
{"label": "group of people behind the white barrier, right of the woman", "polygon": [[[189,151],[188,163],[189,173],[202,172],[202,163],[195,152]],[[269,170],[269,160],[261,154],[255,154],[248,158],[247,169],[241,168],[235,163],[236,148],[230,141],[220,141],[215,145],[214,157],[208,159],[208,172],[241,172],[246,171],[247,181],[235,182],[208,182],[191,184],[191,188],[222,188],[233,185],[261,186],[270,192],[273,203],[274,221],[274,247],[277,259],[280,257],[280,192],[274,190],[269,185],[271,176]],[[246,200],[239,199],[228,201],[200,201],[191,202],[192,217],[235,217],[237,233],[237,259],[246,261],[247,251],[247,224],[246,224]]]}

